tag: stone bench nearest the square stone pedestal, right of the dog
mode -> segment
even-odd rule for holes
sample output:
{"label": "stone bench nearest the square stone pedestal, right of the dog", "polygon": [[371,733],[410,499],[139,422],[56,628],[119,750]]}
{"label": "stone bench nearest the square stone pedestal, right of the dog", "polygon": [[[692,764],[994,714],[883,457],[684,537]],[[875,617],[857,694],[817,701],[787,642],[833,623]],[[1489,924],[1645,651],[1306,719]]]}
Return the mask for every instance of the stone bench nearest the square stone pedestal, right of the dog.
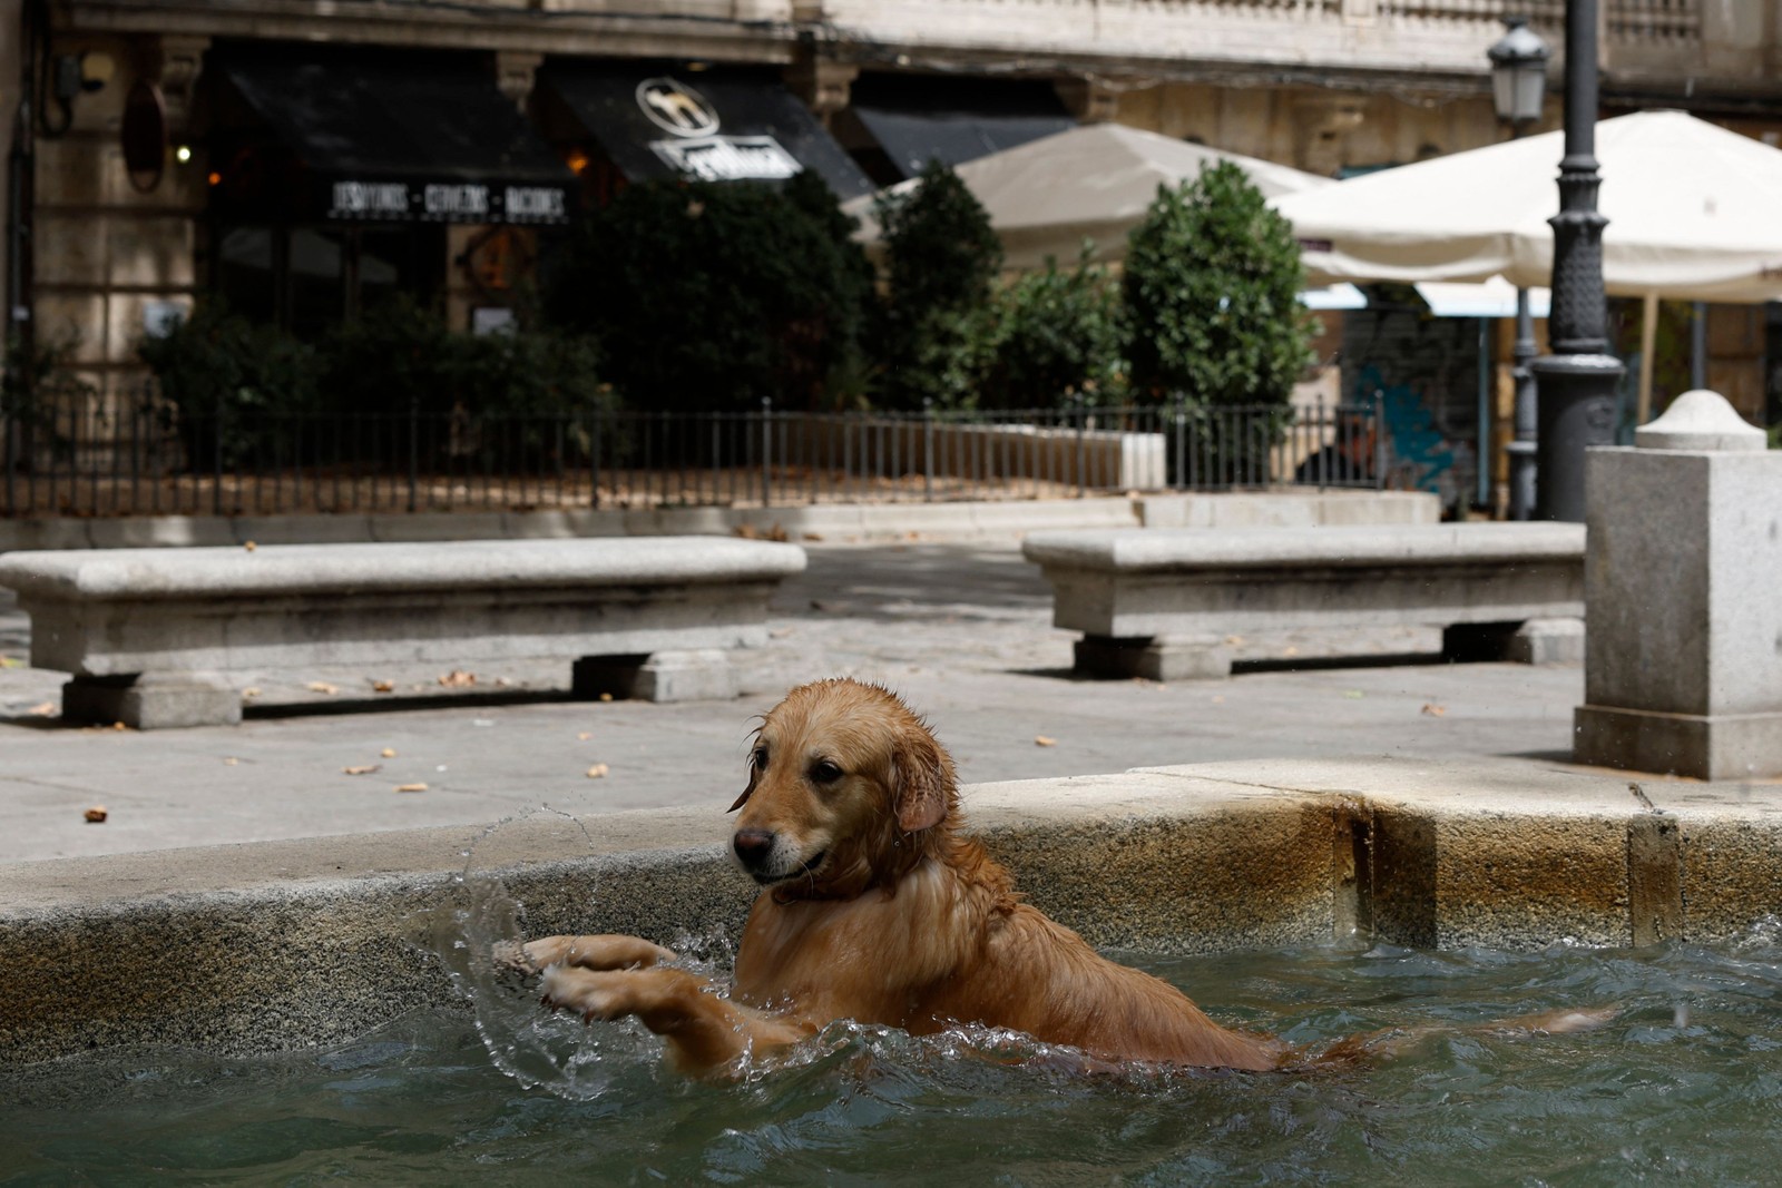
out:
{"label": "stone bench nearest the square stone pedestal, right of the dog", "polygon": [[1183,680],[1231,673],[1235,636],[1426,625],[1465,659],[1577,663],[1584,525],[1397,524],[1091,529],[1023,543],[1076,670]]}

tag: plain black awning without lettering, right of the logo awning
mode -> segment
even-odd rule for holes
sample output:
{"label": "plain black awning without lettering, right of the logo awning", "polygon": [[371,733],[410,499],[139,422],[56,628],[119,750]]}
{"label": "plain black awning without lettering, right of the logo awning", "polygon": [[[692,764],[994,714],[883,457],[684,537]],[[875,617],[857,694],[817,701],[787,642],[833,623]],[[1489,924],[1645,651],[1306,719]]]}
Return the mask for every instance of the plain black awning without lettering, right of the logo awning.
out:
{"label": "plain black awning without lettering, right of the logo awning", "polygon": [[905,178],[930,160],[962,166],[1076,126],[1051,84],[1034,80],[862,75],[850,98]]}

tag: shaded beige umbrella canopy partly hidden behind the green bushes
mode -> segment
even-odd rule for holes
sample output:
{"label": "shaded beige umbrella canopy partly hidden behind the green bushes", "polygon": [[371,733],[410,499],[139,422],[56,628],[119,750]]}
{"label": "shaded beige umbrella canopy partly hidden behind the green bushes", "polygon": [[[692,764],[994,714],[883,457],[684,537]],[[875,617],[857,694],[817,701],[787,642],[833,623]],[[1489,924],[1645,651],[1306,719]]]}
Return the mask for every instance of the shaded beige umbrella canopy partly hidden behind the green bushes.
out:
{"label": "shaded beige umbrella canopy partly hidden behind the green bushes", "polygon": [[[1203,164],[1221,160],[1242,167],[1265,198],[1335,187],[1315,173],[1112,123],[1028,141],[955,171],[989,214],[1003,244],[1003,267],[1026,271],[1044,267],[1046,256],[1075,264],[1083,239],[1096,242],[1098,262],[1126,258],[1126,233],[1144,217],[1157,187],[1192,182]],[[891,192],[918,183],[900,182]],[[868,246],[879,240],[871,196],[843,210],[861,219],[855,239]]]}

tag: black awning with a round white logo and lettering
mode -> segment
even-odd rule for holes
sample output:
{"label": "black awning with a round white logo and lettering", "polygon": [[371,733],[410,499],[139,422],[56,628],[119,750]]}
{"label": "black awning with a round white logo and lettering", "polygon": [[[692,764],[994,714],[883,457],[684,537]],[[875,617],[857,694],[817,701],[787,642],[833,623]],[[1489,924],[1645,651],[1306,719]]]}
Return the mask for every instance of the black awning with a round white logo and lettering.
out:
{"label": "black awning with a round white logo and lettering", "polygon": [[841,199],[873,191],[775,69],[563,59],[538,80],[633,182],[775,182],[813,169]]}

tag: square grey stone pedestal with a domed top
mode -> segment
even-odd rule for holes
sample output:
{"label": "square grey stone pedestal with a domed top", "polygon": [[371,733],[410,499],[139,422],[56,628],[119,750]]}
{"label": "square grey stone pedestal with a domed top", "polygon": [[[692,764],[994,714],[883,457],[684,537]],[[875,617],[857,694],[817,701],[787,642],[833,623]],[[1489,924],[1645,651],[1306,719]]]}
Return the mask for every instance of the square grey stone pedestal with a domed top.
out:
{"label": "square grey stone pedestal with a domed top", "polygon": [[1586,463],[1577,762],[1782,773],[1782,452],[1714,392]]}

